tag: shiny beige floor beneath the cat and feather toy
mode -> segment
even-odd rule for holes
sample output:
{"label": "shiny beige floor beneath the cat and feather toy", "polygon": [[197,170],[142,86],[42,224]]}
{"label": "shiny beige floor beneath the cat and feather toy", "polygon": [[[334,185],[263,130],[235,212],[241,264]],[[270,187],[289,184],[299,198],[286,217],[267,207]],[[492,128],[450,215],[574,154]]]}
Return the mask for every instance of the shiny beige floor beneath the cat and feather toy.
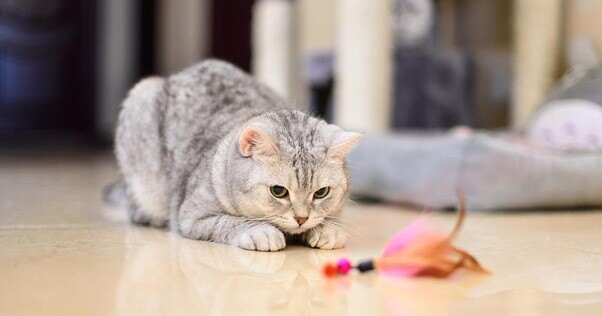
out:
{"label": "shiny beige floor beneath the cat and feather toy", "polygon": [[0,157],[0,315],[602,315],[602,212],[470,214],[457,243],[487,277],[325,280],[416,213],[349,205],[346,249],[257,253],[129,225],[100,201],[114,176],[107,154]]}

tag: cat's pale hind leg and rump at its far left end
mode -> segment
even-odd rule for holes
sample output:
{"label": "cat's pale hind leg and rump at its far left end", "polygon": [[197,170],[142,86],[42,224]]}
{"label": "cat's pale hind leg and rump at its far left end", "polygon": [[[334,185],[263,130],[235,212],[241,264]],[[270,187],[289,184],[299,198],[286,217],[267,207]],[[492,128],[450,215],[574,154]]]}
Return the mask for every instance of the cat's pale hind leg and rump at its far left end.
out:
{"label": "cat's pale hind leg and rump at its far left end", "polygon": [[158,101],[164,82],[160,77],[147,78],[130,90],[119,114],[115,137],[130,219],[157,227],[165,226],[169,218]]}

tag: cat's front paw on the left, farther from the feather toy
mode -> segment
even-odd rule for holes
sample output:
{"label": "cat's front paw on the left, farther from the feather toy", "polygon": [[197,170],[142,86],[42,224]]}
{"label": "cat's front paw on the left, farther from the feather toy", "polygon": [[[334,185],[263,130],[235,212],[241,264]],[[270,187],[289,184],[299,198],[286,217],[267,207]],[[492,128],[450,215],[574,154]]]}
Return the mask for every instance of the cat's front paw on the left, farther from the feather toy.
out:
{"label": "cat's front paw on the left, farther from the feather toy", "polygon": [[236,245],[248,250],[278,251],[286,246],[286,241],[278,228],[266,224],[241,233]]}

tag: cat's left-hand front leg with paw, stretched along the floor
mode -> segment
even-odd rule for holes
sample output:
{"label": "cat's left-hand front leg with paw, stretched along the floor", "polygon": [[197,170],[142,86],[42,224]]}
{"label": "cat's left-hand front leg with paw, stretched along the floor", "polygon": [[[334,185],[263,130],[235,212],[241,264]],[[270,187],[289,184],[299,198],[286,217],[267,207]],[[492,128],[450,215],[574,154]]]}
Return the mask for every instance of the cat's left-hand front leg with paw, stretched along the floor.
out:
{"label": "cat's left-hand front leg with paw, stretched along the floor", "polygon": [[184,201],[178,227],[186,238],[213,241],[248,250],[278,251],[286,246],[284,234],[276,227],[257,220],[207,212],[207,204]]}

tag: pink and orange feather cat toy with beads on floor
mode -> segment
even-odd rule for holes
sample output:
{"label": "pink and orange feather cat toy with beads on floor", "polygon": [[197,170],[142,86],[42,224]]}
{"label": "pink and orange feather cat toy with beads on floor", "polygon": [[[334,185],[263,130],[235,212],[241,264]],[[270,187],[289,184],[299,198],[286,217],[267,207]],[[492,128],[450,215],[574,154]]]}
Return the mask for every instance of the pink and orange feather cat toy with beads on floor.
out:
{"label": "pink and orange feather cat toy with beads on floor", "polygon": [[398,277],[444,278],[460,268],[486,273],[487,271],[472,255],[452,244],[466,215],[464,198],[460,193],[458,196],[458,217],[449,235],[428,229],[426,217],[423,216],[397,233],[379,258],[365,260],[355,266],[349,260],[342,258],[336,264],[324,265],[322,270],[324,275],[327,277],[346,275],[354,269],[360,273],[377,270]]}

